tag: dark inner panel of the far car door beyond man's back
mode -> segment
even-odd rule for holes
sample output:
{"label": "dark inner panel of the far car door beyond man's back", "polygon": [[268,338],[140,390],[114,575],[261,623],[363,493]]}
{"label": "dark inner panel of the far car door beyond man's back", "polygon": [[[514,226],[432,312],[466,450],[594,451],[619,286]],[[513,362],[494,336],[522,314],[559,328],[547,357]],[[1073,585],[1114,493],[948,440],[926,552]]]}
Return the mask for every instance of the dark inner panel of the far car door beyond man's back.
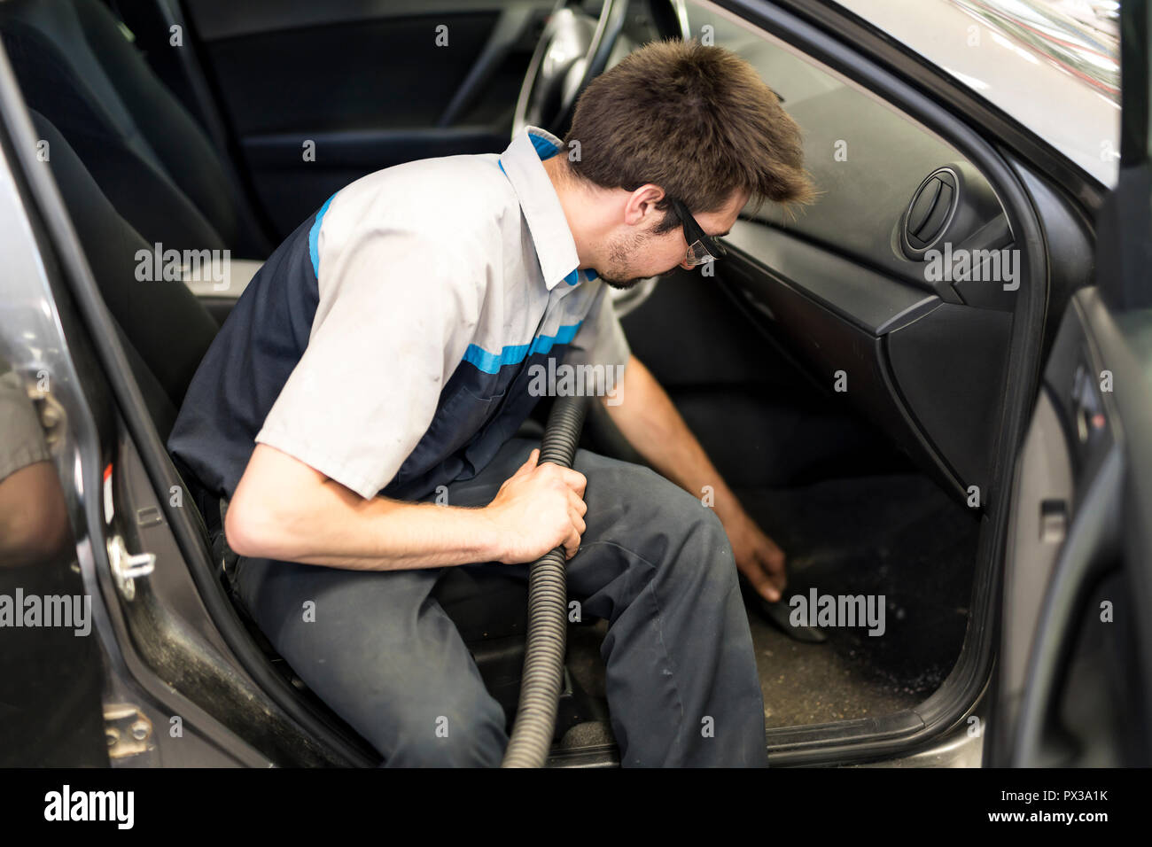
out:
{"label": "dark inner panel of the far car door beyond man's back", "polygon": [[187,0],[240,167],[279,239],[414,159],[500,152],[552,0]]}

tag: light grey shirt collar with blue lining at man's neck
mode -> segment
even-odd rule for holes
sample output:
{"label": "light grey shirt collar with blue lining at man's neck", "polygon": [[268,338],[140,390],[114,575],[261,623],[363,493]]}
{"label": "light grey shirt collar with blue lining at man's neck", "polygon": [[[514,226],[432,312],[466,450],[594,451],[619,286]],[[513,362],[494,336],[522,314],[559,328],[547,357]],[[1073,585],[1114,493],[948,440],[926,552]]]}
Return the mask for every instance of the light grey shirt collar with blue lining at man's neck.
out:
{"label": "light grey shirt collar with blue lining at man's neck", "polygon": [[[520,207],[524,210],[544,283],[550,292],[561,280],[571,286],[582,281],[577,272],[579,257],[576,255],[576,242],[543,164],[562,146],[563,142],[546,129],[525,127],[499,159],[500,168],[507,174],[520,199]],[[586,277],[594,279],[596,273],[589,271]]]}

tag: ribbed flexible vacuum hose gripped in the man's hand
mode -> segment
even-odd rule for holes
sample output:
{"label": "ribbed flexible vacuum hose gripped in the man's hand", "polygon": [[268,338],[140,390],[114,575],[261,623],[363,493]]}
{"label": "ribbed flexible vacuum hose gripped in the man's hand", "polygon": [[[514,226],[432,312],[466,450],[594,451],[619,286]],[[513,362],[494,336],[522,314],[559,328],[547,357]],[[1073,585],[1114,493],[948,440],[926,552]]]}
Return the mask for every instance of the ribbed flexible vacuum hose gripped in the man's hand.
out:
{"label": "ribbed flexible vacuum hose gripped in the man's hand", "polygon": [[[538,464],[573,467],[588,410],[586,398],[556,398],[540,441]],[[564,550],[556,547],[535,561],[528,573],[528,644],[520,686],[516,724],[501,767],[543,767],[552,749],[556,706],[564,678],[568,635],[568,582]]]}

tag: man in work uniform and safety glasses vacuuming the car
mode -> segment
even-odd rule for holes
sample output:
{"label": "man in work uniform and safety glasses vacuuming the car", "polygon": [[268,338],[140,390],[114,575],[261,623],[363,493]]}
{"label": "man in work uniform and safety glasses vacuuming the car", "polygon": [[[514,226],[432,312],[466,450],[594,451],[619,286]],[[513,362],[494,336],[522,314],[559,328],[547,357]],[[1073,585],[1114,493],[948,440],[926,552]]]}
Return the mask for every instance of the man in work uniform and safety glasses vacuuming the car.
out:
{"label": "man in work uniform and safety glasses vacuuming the car", "polygon": [[[622,763],[766,764],[736,568],[774,600],[783,553],[630,356],[604,283],[708,260],[750,198],[806,201],[801,158],[745,62],[652,44],[592,82],[564,142],[529,128],[500,156],[365,176],[245,290],[169,448],[210,522],[228,501],[262,630],[386,764],[500,762],[503,713],[431,591],[448,567],[526,576],[561,544],[569,593],[609,622]],[[622,369],[600,402],[672,482],[585,451],[537,464],[513,436],[550,357]]]}

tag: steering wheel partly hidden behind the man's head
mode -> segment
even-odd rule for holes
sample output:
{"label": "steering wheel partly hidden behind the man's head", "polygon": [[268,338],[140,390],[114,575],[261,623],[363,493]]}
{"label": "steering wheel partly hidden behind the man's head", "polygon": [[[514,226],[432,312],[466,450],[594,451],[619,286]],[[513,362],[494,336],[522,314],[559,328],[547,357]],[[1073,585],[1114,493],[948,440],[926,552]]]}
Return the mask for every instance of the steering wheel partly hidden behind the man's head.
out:
{"label": "steering wheel partly hidden behind the man's head", "polygon": [[568,131],[576,98],[604,73],[628,13],[628,0],[604,0],[594,17],[578,0],[558,0],[516,100],[513,137],[524,127]]}

